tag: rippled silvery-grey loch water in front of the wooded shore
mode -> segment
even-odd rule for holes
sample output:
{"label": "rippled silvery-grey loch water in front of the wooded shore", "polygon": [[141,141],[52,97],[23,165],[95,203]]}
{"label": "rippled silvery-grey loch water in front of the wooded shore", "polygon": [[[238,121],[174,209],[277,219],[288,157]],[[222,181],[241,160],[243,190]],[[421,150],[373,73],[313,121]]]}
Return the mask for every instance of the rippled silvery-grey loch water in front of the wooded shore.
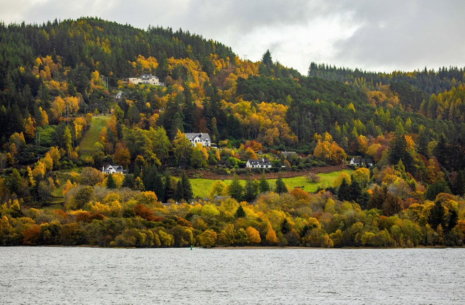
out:
{"label": "rippled silvery-grey loch water in front of the wooded shore", "polygon": [[0,247],[0,304],[464,304],[465,249]]}

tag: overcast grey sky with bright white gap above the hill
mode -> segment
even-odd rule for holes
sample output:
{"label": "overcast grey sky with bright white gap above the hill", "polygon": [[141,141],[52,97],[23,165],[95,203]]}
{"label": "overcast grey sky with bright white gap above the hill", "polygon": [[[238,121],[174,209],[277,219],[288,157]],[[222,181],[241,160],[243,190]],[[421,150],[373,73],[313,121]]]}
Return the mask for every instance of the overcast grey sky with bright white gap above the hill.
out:
{"label": "overcast grey sky with bright white gap above the hill", "polygon": [[182,28],[241,58],[306,74],[310,63],[391,72],[465,66],[463,0],[0,0],[0,20],[97,16],[147,29]]}

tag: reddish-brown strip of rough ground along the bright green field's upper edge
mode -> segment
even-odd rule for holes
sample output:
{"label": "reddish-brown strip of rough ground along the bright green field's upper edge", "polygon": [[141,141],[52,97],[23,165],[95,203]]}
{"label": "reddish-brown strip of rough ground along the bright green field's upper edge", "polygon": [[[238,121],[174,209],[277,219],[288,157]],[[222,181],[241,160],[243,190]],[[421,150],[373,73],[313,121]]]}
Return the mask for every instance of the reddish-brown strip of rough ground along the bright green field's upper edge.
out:
{"label": "reddish-brown strip of rough ground along the bright green field's upper edge", "polygon": [[[288,172],[279,172],[279,173],[265,173],[265,177],[267,179],[276,179],[278,177],[278,175],[281,175],[281,177],[283,177],[283,178],[291,178],[291,177],[305,176],[305,175],[308,175],[309,173],[327,174],[327,173],[331,173],[331,172],[335,172],[335,171],[340,171],[340,170],[343,170],[343,169],[350,169],[350,167],[348,167],[347,165],[327,165],[327,166],[322,166],[322,167],[313,167],[310,170],[298,171],[298,172],[288,171]],[[206,179],[232,179],[231,175],[219,175],[219,174],[215,174],[215,173],[212,173],[212,172],[190,171],[188,173],[188,175],[190,177],[194,177],[194,176],[198,177],[198,176],[200,176],[200,177],[206,178]],[[238,176],[240,178],[247,176],[247,177],[251,177],[253,179],[260,179],[261,174],[252,174],[250,176],[242,174],[242,175],[238,175]]]}

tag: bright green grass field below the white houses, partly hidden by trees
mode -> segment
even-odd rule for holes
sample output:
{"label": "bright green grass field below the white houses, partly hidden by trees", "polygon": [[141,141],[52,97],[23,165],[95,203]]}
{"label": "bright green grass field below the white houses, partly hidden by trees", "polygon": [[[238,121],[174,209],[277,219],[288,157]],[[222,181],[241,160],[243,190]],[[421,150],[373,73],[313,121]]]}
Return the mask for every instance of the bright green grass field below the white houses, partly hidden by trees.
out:
{"label": "bright green grass field below the white houses, partly hidden by trees", "polygon": [[[337,172],[331,172],[329,174],[318,174],[318,176],[321,177],[320,182],[318,183],[312,183],[308,181],[305,176],[299,176],[299,177],[292,177],[292,178],[283,178],[284,183],[289,185],[291,189],[294,187],[304,187],[304,190],[307,192],[315,192],[318,188],[319,185],[322,186],[330,186],[332,185],[334,179],[340,174],[341,171]],[[349,175],[352,174],[352,170],[342,170],[342,172],[346,172]],[[223,182],[228,185],[231,183],[232,179],[224,179]],[[195,179],[190,179],[191,184],[192,184],[192,192],[194,193],[194,196],[198,197],[208,197],[210,194],[211,187],[213,186],[213,183],[215,183],[215,179],[204,179],[204,178],[195,178]],[[276,179],[269,179],[268,182],[272,187],[274,187]],[[241,179],[242,185],[245,184],[245,180]]]}

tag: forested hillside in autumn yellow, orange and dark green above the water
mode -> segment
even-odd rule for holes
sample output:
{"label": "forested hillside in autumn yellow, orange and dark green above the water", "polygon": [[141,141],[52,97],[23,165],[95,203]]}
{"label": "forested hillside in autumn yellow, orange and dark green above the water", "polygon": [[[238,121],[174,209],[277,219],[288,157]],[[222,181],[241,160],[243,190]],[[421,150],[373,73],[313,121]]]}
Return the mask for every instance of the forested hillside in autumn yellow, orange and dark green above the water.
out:
{"label": "forested hillside in autumn yellow, orange and dark green above the water", "polygon": [[[128,81],[142,74],[164,84]],[[457,67],[311,63],[304,76],[269,50],[244,61],[188,31],[98,18],[1,23],[0,242],[462,245],[464,83]],[[373,166],[316,193],[267,181],[319,183],[319,168],[353,157]],[[232,182],[193,198],[192,178],[208,174]]]}

